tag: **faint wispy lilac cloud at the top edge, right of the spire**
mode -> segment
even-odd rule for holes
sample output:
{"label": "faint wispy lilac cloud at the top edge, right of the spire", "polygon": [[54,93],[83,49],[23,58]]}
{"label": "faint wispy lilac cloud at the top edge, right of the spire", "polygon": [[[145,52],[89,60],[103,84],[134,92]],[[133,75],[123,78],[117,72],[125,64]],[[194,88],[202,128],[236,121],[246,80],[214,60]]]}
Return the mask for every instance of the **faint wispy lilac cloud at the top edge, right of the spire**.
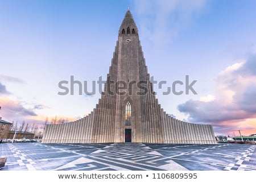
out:
{"label": "faint wispy lilac cloud at the top edge, right of the spire", "polygon": [[206,0],[139,0],[134,1],[141,31],[156,45],[170,42],[201,13]]}

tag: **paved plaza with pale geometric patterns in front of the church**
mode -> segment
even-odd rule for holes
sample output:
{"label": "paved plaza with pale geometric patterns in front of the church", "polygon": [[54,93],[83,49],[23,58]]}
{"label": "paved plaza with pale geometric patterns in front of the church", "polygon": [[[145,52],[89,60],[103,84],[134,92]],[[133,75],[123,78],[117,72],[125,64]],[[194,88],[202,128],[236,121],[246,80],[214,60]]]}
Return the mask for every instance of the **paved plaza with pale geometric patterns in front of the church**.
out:
{"label": "paved plaza with pale geometric patterns in front of the church", "polygon": [[5,170],[256,170],[249,144],[3,143]]}

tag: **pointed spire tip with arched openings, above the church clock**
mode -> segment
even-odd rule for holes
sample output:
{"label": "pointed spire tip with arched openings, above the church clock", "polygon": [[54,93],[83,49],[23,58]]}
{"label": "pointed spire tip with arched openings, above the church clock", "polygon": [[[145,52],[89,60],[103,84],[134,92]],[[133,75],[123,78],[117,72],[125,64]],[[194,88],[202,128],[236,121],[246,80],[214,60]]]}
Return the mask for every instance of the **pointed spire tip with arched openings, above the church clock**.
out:
{"label": "pointed spire tip with arched openings, above the church clock", "polygon": [[131,15],[130,8],[127,9],[125,18],[119,28],[119,36],[122,35],[138,35],[138,28],[134,22],[133,15]]}

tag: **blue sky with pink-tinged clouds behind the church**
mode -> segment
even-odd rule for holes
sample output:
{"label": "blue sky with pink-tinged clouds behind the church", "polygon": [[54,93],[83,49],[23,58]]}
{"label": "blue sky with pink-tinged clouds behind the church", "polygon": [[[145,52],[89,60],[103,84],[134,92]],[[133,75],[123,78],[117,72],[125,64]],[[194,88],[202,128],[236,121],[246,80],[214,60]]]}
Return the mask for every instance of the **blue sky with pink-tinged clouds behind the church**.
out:
{"label": "blue sky with pink-tinged clouds behind the church", "polygon": [[[41,125],[75,121],[100,93],[60,96],[60,81],[103,80],[130,8],[159,103],[216,135],[256,134],[256,2],[253,0],[0,1],[0,116]],[[196,80],[197,94],[164,95]],[[177,86],[184,90],[184,85]]]}

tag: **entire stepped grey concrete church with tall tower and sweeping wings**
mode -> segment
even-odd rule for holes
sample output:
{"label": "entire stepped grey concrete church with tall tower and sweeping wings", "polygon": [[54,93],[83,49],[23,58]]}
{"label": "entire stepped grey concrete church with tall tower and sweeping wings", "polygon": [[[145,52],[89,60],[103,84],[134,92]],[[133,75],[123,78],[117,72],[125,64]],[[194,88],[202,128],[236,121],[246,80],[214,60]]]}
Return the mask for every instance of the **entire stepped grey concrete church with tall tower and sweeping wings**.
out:
{"label": "entire stepped grey concrete church with tall tower and sweeping wings", "polygon": [[46,125],[42,142],[215,144],[216,139],[211,125],[180,121],[170,117],[158,104],[138,28],[127,10],[96,108],[75,122]]}

